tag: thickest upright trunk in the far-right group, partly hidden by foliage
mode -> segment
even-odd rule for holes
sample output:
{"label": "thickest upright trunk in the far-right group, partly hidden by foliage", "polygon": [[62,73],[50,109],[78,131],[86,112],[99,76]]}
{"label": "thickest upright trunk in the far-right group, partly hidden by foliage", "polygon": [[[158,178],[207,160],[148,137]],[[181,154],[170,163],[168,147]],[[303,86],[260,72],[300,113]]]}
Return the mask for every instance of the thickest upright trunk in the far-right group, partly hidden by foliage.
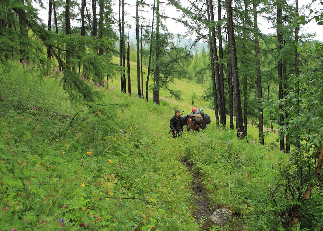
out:
{"label": "thickest upright trunk in the far-right group, partly hidden by foliage", "polygon": [[[282,29],[283,29],[283,20],[282,20],[282,9],[281,9],[281,3],[280,0],[277,0],[277,42],[278,42],[278,47],[277,47],[277,51],[278,51],[278,57],[279,57],[279,52],[282,49],[282,43],[283,43],[283,33],[282,33]],[[278,83],[278,96],[279,99],[283,98],[283,72],[282,72],[282,60],[281,58],[278,58],[278,79],[279,79],[279,83]],[[283,110],[283,106],[280,105],[279,106],[279,110],[282,111]],[[284,114],[281,113],[279,116],[279,125],[283,126],[284,123]],[[284,137],[280,137],[280,150],[285,150],[285,142],[284,142]]]}

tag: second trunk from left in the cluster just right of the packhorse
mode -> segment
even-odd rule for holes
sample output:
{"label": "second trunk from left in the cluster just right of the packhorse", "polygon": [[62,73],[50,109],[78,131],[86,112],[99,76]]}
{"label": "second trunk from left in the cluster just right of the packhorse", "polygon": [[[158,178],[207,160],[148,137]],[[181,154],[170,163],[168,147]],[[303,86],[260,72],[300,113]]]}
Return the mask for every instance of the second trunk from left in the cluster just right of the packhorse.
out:
{"label": "second trunk from left in the cluster just right of the packhorse", "polygon": [[[213,55],[214,55],[214,71],[215,71],[215,77],[216,77],[216,85],[218,87],[218,105],[219,105],[219,112],[220,112],[220,123],[225,126],[226,120],[225,120],[225,111],[224,111],[224,99],[222,98],[221,93],[221,79],[220,79],[220,70],[219,70],[219,64],[218,64],[218,52],[216,47],[216,35],[215,35],[215,26],[214,26],[214,12],[213,12],[213,0],[209,0],[209,9],[210,9],[210,22],[212,23],[211,27],[211,34],[212,34],[212,44],[213,44]],[[223,83],[222,83],[223,85]],[[215,87],[215,85],[214,85]],[[214,88],[213,88],[214,89]],[[224,94],[223,94],[224,95]]]}

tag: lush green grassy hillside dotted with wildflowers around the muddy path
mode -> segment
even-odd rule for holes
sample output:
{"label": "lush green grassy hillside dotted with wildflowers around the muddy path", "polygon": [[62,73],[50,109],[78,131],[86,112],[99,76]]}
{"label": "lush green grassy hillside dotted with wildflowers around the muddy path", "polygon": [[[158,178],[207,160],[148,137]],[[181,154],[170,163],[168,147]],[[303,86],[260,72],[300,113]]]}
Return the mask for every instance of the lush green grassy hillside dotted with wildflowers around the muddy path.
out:
{"label": "lush green grassy hillside dotted with wildflowers around the muddy path", "polygon": [[[45,78],[16,63],[0,73],[1,231],[202,230],[192,217],[193,178],[181,160],[193,164],[211,206],[234,214],[227,226],[209,230],[280,226],[266,187],[284,153],[215,128],[203,102],[196,106],[212,117],[208,128],[172,139],[169,119],[175,108],[190,112],[189,101],[161,94],[156,106],[120,93],[113,80],[109,89],[93,86],[104,100],[89,109],[70,104],[59,73]],[[183,96],[192,89],[185,84],[174,83]]]}

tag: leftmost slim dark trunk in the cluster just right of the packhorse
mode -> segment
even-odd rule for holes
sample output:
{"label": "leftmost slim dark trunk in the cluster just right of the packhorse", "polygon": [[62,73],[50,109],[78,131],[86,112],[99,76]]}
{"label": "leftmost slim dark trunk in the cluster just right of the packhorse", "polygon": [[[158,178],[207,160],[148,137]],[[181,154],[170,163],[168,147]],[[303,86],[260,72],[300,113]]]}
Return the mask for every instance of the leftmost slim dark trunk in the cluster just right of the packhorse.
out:
{"label": "leftmost slim dark trunk in the cluster just right of the packhorse", "polygon": [[[210,5],[209,2],[206,2],[206,10],[207,10],[207,19],[208,22],[211,23],[210,20]],[[214,111],[215,111],[215,123],[216,126],[219,126],[219,111],[218,111],[218,98],[215,86],[215,68],[214,68],[214,44],[212,42],[212,29],[209,27],[209,46],[210,46],[210,60],[211,60],[211,73],[212,73],[212,84],[213,84],[213,99],[214,99]]]}

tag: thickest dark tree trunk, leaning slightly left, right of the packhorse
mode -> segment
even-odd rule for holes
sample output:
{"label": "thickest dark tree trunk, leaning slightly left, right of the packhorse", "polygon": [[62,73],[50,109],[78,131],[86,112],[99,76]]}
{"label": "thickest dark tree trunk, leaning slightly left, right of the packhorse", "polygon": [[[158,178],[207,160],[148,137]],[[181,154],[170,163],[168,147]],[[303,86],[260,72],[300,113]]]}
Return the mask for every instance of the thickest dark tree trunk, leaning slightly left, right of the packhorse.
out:
{"label": "thickest dark tree trunk, leaning slightly left, right of the packhorse", "polygon": [[228,38],[230,44],[230,56],[231,56],[231,68],[232,68],[232,82],[234,89],[234,106],[235,106],[235,126],[237,130],[238,138],[245,137],[245,129],[242,119],[240,86],[238,76],[238,63],[235,49],[234,28],[232,21],[232,0],[225,0],[227,11],[227,23],[228,23]]}

